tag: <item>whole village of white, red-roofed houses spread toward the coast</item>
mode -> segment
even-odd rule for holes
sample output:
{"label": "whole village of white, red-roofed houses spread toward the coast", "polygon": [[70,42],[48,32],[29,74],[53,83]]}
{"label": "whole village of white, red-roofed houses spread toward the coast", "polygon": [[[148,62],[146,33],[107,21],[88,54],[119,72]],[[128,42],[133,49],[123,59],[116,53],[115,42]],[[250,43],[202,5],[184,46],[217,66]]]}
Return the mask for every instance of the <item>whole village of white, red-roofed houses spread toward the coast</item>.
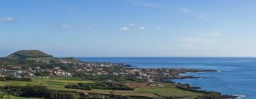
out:
{"label": "whole village of white, red-roofed houses spread toward the coast", "polygon": [[[34,60],[35,62],[41,62]],[[41,62],[44,64],[59,64],[52,68],[43,69],[40,66],[24,68],[18,65],[1,65],[0,76],[13,78],[31,78],[31,77],[54,77],[66,76],[75,77],[77,74],[85,76],[118,76],[123,78],[132,78],[136,81],[145,83],[154,83],[163,79],[183,79],[196,78],[194,76],[184,76],[186,72],[201,72],[207,70],[200,69],[180,69],[180,68],[137,68],[130,64],[108,63],[108,62],[81,62],[77,59],[58,59],[57,62]],[[69,69],[63,69],[62,66],[68,66]],[[3,68],[6,67],[6,68]],[[112,82],[114,79],[106,78],[104,81]]]}

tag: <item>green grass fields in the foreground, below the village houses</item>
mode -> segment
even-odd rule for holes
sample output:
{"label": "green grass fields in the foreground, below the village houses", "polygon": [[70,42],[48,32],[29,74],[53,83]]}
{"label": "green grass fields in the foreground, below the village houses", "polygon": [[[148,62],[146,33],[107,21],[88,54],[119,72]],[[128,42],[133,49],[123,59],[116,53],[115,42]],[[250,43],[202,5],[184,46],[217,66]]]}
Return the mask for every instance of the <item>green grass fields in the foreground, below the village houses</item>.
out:
{"label": "green grass fields in the foreground, below the village houses", "polygon": [[[33,78],[32,81],[0,81],[0,86],[28,86],[28,85],[42,85],[49,89],[57,91],[69,91],[74,93],[87,92],[97,94],[110,94],[112,90],[92,89],[92,91],[65,88],[67,84],[78,83],[95,83],[94,81],[82,80],[80,78]],[[161,83],[164,87],[159,86],[146,86],[144,83],[127,82],[126,86],[135,88],[134,91],[113,91],[114,95],[129,95],[129,96],[145,96],[157,98],[161,96],[195,96],[203,95],[202,93],[194,93],[190,91],[183,91],[176,88],[174,83]],[[17,98],[18,99],[18,98]],[[22,98],[21,98],[22,99]]]}

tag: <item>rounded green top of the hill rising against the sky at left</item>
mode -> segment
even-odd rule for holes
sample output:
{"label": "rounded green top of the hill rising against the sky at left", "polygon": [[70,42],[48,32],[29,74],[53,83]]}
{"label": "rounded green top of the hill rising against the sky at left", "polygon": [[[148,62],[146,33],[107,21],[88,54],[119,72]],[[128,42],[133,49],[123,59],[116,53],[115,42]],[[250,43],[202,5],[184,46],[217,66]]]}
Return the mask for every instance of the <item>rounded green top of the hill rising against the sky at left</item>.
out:
{"label": "rounded green top of the hill rising against the sky at left", "polygon": [[40,50],[21,50],[7,56],[7,59],[33,59],[53,57],[52,55],[41,52]]}

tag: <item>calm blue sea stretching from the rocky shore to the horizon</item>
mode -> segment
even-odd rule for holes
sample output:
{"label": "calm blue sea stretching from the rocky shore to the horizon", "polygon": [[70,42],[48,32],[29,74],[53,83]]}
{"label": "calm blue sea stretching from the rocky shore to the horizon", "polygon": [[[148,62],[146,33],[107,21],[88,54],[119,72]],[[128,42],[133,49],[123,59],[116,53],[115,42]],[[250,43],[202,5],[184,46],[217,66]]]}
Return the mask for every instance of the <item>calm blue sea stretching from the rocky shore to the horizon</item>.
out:
{"label": "calm blue sea stretching from the rocky shore to the horizon", "polygon": [[256,58],[244,57],[80,57],[85,62],[118,62],[142,68],[215,69],[219,72],[188,73],[198,79],[174,80],[218,91],[225,95],[247,95],[256,99]]}

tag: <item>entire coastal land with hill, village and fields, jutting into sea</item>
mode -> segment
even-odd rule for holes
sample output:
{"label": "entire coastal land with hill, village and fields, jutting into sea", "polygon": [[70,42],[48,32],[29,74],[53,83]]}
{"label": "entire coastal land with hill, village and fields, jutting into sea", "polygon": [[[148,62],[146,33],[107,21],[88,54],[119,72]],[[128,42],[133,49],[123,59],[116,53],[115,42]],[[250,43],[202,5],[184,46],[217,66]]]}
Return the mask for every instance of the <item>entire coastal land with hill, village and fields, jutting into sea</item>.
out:
{"label": "entire coastal land with hill, village and fields, jutting into sea", "polygon": [[0,59],[1,91],[18,98],[237,98],[174,83],[198,78],[205,69],[138,68],[112,62],[56,58],[39,50],[21,50]]}

